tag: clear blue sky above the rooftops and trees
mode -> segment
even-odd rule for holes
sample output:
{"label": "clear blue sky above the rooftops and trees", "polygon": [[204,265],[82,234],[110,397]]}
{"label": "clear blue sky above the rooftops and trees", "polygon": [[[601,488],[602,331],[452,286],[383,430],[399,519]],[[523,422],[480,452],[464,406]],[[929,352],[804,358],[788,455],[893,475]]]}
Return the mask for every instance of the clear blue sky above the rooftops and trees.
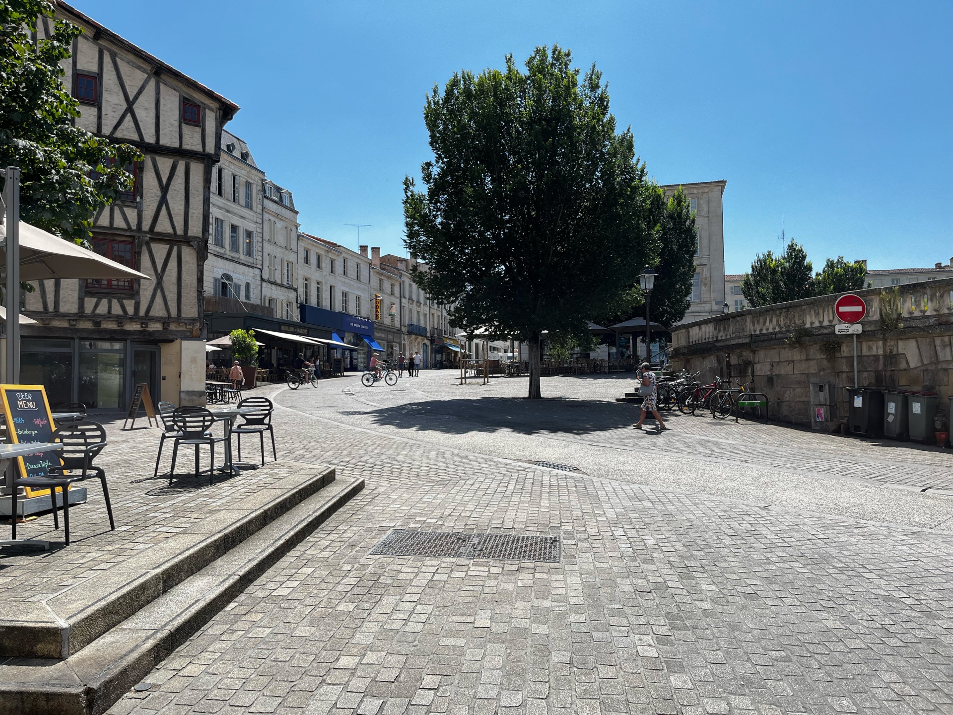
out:
{"label": "clear blue sky above the rooftops and trees", "polygon": [[659,183],[726,179],[725,262],[953,256],[953,4],[74,0],[232,99],[228,128],[294,191],[302,229],[402,253],[424,96],[558,43],[609,82]]}

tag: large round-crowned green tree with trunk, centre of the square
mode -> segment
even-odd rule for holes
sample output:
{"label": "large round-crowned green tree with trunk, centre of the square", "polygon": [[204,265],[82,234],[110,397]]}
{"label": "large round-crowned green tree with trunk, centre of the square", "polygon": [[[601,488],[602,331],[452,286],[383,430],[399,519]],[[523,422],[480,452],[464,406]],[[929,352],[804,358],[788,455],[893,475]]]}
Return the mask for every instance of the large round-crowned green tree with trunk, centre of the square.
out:
{"label": "large round-crowned green tree with trunk, centre of the square", "polygon": [[537,48],[521,72],[457,72],[428,96],[426,192],[404,180],[405,242],[427,264],[416,281],[464,329],[530,345],[529,397],[540,397],[546,331],[584,335],[654,264],[645,168],[617,133],[593,66]]}

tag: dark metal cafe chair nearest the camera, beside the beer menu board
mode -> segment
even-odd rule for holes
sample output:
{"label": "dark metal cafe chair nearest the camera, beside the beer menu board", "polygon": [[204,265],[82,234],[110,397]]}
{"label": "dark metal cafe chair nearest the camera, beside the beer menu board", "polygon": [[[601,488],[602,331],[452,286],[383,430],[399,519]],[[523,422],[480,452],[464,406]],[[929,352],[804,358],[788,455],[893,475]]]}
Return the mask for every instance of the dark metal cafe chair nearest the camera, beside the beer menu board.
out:
{"label": "dark metal cafe chair nearest the camera, beside the beer menu board", "polygon": [[[84,481],[91,478],[98,479],[103,487],[103,498],[106,500],[106,513],[110,517],[110,529],[115,531],[115,521],[112,520],[112,502],[110,489],[106,484],[106,472],[102,467],[92,464],[106,446],[106,430],[99,422],[80,421],[68,422],[57,427],[52,434],[51,441],[61,442],[63,448],[59,451],[59,459],[63,462],[59,466],[51,467],[49,476],[25,477],[13,480],[13,488],[29,486],[31,489],[50,489],[53,511],[53,528],[59,528],[59,519],[56,516],[56,490],[63,495],[63,524],[66,527],[66,543],[70,545],[70,484],[74,481]],[[79,472],[79,474],[69,474]]]}

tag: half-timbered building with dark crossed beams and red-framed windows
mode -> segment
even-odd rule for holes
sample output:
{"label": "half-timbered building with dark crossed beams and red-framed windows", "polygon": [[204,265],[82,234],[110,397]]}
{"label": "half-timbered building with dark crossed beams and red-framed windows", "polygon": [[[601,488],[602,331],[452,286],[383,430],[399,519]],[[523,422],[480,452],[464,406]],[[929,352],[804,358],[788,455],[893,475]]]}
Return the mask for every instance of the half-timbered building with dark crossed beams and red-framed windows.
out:
{"label": "half-timbered building with dark crossed beams and red-framed windows", "polygon": [[[201,404],[211,182],[238,107],[69,5],[57,2],[56,16],[84,31],[64,61],[76,124],[145,155],[130,167],[132,191],[95,216],[93,248],[152,280],[39,281],[22,379],[92,410],[123,408],[141,382],[153,400]],[[51,31],[41,18],[37,33]]]}

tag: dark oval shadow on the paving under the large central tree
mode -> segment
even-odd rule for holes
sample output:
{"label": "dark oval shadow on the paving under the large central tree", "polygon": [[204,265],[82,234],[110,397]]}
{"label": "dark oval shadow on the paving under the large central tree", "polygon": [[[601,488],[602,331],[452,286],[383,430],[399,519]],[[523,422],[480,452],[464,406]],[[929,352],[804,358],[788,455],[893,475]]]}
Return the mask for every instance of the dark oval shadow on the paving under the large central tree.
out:
{"label": "dark oval shadow on the paving under the large central tree", "polygon": [[434,399],[371,410],[375,425],[461,435],[509,431],[522,435],[591,435],[631,427],[633,406],[597,399]]}

